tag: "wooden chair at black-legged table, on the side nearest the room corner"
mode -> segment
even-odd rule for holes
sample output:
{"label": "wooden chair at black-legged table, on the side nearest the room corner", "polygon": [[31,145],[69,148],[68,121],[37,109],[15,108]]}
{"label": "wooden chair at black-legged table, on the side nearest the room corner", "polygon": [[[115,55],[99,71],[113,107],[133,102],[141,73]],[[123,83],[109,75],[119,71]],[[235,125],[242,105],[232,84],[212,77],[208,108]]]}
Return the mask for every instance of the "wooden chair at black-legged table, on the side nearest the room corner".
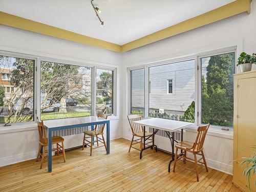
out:
{"label": "wooden chair at black-legged table, on the side nearest the room corner", "polygon": [[[132,129],[132,132],[133,132],[133,138],[132,138],[132,141],[131,141],[131,144],[130,144],[129,152],[131,151],[131,148],[135,148],[135,150],[141,151],[142,148],[143,148],[143,137],[144,137],[143,127],[138,125],[138,124],[135,124],[133,122],[141,120],[142,115],[128,115],[127,118],[129,120],[131,129]],[[134,139],[134,137],[139,137],[139,139]],[[153,140],[154,140],[154,137],[153,137],[152,133],[145,132],[145,137],[146,138],[147,137],[152,137],[152,139],[148,139],[150,142],[145,143],[145,145],[148,145],[148,143],[152,143]],[[140,143],[140,148],[136,148],[136,147],[132,146],[132,145],[135,145],[137,143]]]}

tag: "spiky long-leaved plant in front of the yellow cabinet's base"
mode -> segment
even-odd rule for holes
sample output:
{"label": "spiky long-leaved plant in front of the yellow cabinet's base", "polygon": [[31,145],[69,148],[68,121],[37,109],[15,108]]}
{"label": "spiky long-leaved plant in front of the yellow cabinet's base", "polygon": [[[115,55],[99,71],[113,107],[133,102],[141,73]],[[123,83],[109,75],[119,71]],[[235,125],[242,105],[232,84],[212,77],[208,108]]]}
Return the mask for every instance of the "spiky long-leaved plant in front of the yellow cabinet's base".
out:
{"label": "spiky long-leaved plant in front of the yellow cabinet's base", "polygon": [[[256,175],[256,146],[252,146],[250,148],[254,150],[254,152],[252,152],[250,157],[242,157],[241,159],[238,159],[238,160],[242,160],[239,163],[240,165],[243,165],[243,164],[246,165],[244,169],[244,176],[247,179],[249,188],[250,188],[251,175]],[[254,181],[254,184],[256,185],[256,180]]]}

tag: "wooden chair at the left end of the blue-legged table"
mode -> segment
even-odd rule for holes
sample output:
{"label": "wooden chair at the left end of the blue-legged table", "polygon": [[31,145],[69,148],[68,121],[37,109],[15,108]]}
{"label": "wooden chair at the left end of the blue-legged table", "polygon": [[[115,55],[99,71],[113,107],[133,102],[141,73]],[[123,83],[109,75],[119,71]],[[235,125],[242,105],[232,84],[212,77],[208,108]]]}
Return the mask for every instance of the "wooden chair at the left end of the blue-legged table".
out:
{"label": "wooden chair at the left end of the blue-legged table", "polygon": [[[47,146],[48,146],[48,138],[46,137],[46,129],[43,121],[39,121],[37,118],[37,127],[39,132],[39,150],[37,153],[36,161],[39,161],[39,158],[41,157],[41,165],[40,169],[42,168],[42,163],[44,163],[45,154],[48,153]],[[61,145],[59,144],[61,143]],[[60,136],[53,136],[52,137],[52,144],[56,144],[56,148],[53,148],[52,151],[57,151],[57,155],[59,155],[59,152],[62,151],[63,160],[66,162],[66,154],[64,149],[64,139]],[[41,154],[41,148],[42,148],[42,154]]]}

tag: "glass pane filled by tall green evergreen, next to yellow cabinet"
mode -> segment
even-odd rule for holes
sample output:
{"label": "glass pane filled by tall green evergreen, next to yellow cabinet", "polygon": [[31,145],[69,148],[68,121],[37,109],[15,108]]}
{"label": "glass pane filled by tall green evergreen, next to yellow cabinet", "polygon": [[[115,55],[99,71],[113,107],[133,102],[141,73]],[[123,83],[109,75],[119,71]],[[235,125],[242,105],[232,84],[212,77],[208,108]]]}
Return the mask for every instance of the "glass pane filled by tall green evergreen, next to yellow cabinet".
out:
{"label": "glass pane filled by tall green evergreen, next to yellow cabinet", "polygon": [[234,53],[201,58],[201,123],[233,126]]}

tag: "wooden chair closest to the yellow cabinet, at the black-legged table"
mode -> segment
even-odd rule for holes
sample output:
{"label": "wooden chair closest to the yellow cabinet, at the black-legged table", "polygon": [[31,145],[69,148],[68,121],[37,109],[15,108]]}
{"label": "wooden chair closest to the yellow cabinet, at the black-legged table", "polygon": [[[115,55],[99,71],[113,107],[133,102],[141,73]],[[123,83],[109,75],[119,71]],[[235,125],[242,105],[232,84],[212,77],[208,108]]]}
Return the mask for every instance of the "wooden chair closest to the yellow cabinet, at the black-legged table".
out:
{"label": "wooden chair closest to the yellow cabinet, at the black-legged table", "polygon": [[[183,159],[184,163],[186,163],[186,159],[194,161],[195,170],[184,167],[184,166],[181,166],[181,165],[177,165],[177,166],[181,166],[183,168],[193,170],[194,172],[196,172],[197,181],[199,181],[199,178],[198,178],[198,162],[201,163],[201,165],[204,164],[206,172],[208,172],[207,164],[206,164],[204,153],[203,153],[203,144],[204,144],[204,139],[205,139],[206,133],[208,131],[209,125],[210,124],[198,127],[198,129],[197,129],[198,134],[197,134],[196,141],[194,143],[188,142],[188,141],[181,141],[181,142],[179,142],[175,145],[176,153],[175,153],[175,159],[174,159],[174,170],[173,170],[173,172],[175,172],[175,166],[176,166],[176,163],[177,163],[178,159]],[[181,154],[178,155],[178,150],[179,149],[181,150],[181,152],[182,151],[184,151],[184,152],[182,152]],[[194,159],[188,158],[187,157],[187,152],[193,153]],[[202,158],[197,160],[197,155],[201,155]],[[203,162],[200,162],[202,159],[203,159]]]}

